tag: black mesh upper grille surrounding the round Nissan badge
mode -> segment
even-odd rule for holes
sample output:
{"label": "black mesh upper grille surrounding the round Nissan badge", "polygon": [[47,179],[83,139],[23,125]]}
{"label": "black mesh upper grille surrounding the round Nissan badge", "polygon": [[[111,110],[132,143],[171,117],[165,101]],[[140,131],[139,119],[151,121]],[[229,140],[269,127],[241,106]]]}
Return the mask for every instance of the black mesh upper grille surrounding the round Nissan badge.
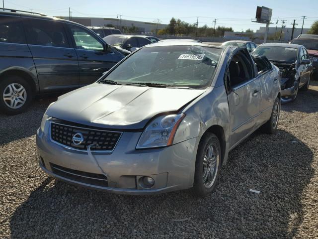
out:
{"label": "black mesh upper grille surrounding the round Nissan badge", "polygon": [[[79,136],[79,133],[83,140],[80,143],[75,141],[75,144],[73,136]],[[86,151],[87,146],[95,144],[91,146],[91,151],[113,151],[121,134],[121,132],[116,131],[89,129],[51,122],[51,140],[76,150]]]}

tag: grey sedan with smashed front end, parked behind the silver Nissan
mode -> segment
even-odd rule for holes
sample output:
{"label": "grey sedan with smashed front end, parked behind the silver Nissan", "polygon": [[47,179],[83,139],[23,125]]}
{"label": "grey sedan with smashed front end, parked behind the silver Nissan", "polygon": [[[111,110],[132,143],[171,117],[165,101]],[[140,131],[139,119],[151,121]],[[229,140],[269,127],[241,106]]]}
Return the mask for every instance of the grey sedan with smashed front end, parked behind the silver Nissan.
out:
{"label": "grey sedan with smashed front end, parked behind the silver Nissan", "polygon": [[287,43],[265,43],[252,52],[266,56],[281,71],[282,103],[296,100],[298,90],[307,91],[313,75],[313,63],[306,48]]}

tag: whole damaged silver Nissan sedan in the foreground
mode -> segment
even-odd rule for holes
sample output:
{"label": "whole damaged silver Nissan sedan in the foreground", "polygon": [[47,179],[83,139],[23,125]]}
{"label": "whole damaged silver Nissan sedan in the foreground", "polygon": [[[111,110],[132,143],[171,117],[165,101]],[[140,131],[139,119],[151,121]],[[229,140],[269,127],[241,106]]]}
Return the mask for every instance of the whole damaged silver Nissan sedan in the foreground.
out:
{"label": "whole damaged silver Nissan sedan in the foreground", "polygon": [[122,194],[206,196],[228,153],[280,113],[280,75],[245,47],[162,41],[52,103],[37,131],[41,168]]}

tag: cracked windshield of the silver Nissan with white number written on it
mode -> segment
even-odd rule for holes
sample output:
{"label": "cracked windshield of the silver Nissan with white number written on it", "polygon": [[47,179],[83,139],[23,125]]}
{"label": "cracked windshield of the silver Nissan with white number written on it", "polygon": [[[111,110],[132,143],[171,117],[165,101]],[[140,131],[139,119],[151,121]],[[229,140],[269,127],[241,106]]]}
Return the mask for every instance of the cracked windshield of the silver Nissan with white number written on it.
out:
{"label": "cracked windshield of the silver Nissan with white number written on it", "polygon": [[202,46],[146,47],[129,56],[103,80],[207,87],[221,53],[222,49]]}

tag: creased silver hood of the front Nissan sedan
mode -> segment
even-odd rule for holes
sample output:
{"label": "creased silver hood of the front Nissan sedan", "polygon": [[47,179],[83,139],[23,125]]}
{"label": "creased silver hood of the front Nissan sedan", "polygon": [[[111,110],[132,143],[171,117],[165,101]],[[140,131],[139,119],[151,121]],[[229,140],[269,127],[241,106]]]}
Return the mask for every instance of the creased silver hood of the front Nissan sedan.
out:
{"label": "creased silver hood of the front Nissan sedan", "polygon": [[94,83],[59,97],[46,114],[97,127],[141,129],[149,119],[180,110],[206,90]]}

